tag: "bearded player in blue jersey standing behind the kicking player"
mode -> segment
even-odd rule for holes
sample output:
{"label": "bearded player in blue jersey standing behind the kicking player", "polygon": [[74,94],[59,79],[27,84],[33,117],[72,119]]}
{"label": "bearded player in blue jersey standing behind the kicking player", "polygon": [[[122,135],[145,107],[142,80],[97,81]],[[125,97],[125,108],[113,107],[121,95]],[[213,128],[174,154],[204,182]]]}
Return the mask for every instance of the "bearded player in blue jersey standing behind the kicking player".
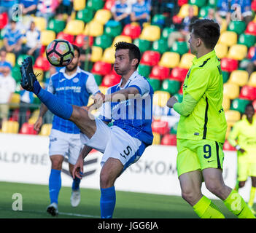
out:
{"label": "bearded player in blue jersey standing behind the kicking player", "polygon": [[[51,76],[47,91],[55,94],[63,103],[87,106],[89,96],[95,95],[99,90],[93,74],[79,68],[79,47],[75,45],[73,47],[74,59],[66,68],[61,68]],[[35,130],[40,130],[42,118],[47,110],[47,106],[42,103],[39,118],[34,125]],[[53,216],[58,214],[58,194],[61,189],[61,168],[64,157],[69,157],[71,173],[82,149],[79,133],[79,128],[73,122],[54,116],[49,145],[52,164],[49,178],[50,205],[47,207],[47,212]],[[79,183],[80,179],[74,178],[70,199],[73,207],[80,202]]]}

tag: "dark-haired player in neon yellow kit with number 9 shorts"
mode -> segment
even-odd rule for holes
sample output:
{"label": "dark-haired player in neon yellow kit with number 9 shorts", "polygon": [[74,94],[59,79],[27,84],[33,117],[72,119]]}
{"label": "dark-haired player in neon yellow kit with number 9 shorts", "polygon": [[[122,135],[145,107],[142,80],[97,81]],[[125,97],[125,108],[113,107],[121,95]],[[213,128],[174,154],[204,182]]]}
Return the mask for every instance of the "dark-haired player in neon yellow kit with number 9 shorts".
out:
{"label": "dark-haired player in neon yellow kit with number 9 shorts", "polygon": [[201,192],[201,184],[225,203],[238,218],[255,218],[236,190],[222,178],[227,122],[222,108],[223,83],[220,60],[214,47],[220,26],[213,20],[190,24],[190,51],[193,65],[183,85],[183,100],[171,97],[167,106],[180,114],[177,129],[177,171],[182,197],[200,218],[225,218]]}

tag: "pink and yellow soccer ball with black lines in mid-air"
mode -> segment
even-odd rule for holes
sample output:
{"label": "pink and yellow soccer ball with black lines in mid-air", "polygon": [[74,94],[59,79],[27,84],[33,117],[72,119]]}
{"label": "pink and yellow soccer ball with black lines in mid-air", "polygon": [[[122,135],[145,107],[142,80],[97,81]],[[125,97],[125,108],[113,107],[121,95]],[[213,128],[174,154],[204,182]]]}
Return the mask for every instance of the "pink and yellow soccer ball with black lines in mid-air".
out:
{"label": "pink and yellow soccer ball with black lines in mid-air", "polygon": [[55,39],[48,44],[46,57],[53,66],[68,66],[74,58],[74,48],[65,39]]}

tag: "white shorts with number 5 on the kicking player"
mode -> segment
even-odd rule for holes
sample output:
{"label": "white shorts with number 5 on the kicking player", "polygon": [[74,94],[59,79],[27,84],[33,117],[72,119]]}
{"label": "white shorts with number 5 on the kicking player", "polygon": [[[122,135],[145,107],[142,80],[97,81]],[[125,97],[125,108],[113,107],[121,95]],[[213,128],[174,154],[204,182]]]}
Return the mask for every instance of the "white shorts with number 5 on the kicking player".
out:
{"label": "white shorts with number 5 on the kicking player", "polygon": [[96,118],[96,133],[92,138],[80,135],[82,144],[104,153],[101,166],[109,158],[119,159],[124,165],[123,170],[136,162],[144,152],[146,145],[138,138],[133,138],[120,127],[108,127],[101,119]]}

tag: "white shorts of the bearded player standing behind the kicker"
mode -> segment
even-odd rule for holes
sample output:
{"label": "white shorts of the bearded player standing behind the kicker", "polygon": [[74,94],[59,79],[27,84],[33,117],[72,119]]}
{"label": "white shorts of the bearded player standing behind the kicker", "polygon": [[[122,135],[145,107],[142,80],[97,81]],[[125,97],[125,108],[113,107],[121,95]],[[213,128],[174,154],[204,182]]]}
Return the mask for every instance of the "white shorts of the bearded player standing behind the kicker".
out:
{"label": "white shorts of the bearded player standing behind the kicker", "polygon": [[61,154],[63,157],[67,156],[69,157],[69,163],[75,165],[82,149],[80,135],[52,129],[49,138],[49,155]]}

